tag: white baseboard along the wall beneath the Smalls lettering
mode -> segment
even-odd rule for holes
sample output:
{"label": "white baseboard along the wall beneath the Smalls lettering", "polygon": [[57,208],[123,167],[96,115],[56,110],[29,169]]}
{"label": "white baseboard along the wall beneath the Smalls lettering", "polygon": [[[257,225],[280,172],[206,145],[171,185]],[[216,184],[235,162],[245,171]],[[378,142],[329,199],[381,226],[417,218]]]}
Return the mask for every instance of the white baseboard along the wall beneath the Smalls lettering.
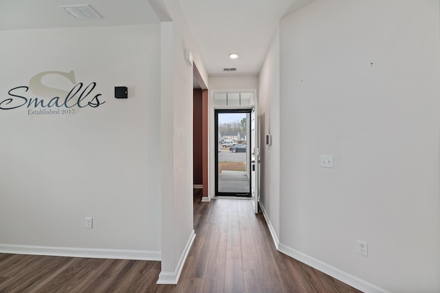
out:
{"label": "white baseboard along the wall beneath the Smalls lettering", "polygon": [[94,259],[134,259],[141,261],[160,261],[162,259],[160,251],[27,246],[1,243],[0,253],[51,255],[54,257],[90,257]]}

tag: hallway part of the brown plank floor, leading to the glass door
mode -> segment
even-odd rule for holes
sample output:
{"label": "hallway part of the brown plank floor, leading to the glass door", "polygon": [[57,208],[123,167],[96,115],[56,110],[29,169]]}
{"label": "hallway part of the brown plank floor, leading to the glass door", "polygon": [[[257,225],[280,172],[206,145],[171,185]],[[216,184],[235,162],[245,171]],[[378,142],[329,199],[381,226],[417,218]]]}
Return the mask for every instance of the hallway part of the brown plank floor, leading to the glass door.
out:
{"label": "hallway part of the brown plank floor, leading to the glass door", "polygon": [[196,189],[194,227],[176,292],[359,292],[278,252],[248,199],[201,202]]}

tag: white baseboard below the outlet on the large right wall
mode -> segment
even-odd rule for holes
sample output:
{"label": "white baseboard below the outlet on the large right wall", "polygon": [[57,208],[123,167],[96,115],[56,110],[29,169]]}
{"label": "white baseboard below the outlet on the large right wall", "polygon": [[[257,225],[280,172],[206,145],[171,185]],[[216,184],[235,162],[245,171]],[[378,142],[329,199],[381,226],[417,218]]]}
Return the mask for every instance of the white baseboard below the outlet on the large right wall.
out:
{"label": "white baseboard below the outlet on the large right wall", "polygon": [[357,276],[353,276],[347,272],[343,272],[333,266],[323,263],[322,261],[318,261],[318,259],[314,259],[313,257],[309,257],[307,254],[303,252],[299,252],[298,250],[294,250],[293,248],[289,248],[288,246],[279,244],[278,251],[287,254],[289,257],[293,257],[298,261],[305,263],[306,265],[310,265],[312,268],[316,268],[316,270],[320,270],[329,276],[333,276],[333,278],[338,279],[351,287],[355,287],[356,289],[365,292],[365,293],[389,293],[389,291],[382,289],[381,287],[377,287],[372,283],[369,283],[365,280],[358,278]]}

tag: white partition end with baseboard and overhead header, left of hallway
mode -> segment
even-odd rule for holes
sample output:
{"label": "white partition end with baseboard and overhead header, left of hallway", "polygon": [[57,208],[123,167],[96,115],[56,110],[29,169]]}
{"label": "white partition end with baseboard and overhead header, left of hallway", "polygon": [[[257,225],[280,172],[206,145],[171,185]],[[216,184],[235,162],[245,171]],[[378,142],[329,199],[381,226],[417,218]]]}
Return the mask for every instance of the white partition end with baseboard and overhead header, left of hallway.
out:
{"label": "white partition end with baseboard and overhead header, left of hallway", "polygon": [[162,268],[158,283],[177,283],[194,239],[192,221],[192,67],[206,70],[178,1],[164,1],[173,21],[161,24]]}

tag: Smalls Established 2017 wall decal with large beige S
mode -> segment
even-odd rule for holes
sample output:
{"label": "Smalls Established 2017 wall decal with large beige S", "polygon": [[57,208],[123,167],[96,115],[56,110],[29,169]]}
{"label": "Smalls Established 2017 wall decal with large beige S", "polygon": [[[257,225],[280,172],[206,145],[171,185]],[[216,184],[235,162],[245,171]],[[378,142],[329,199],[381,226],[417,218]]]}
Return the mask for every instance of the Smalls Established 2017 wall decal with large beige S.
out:
{"label": "Smalls Established 2017 wall decal with large beige S", "polygon": [[[42,78],[50,74],[67,78],[72,83],[72,88],[66,91],[44,85]],[[95,82],[87,86],[83,83],[76,83],[73,70],[71,72],[41,72],[30,79],[29,86],[22,85],[10,89],[8,91],[10,97],[1,100],[0,109],[26,108],[28,115],[74,114],[81,108],[97,108],[105,103],[101,98],[102,94],[92,94],[94,89],[96,89]]]}

